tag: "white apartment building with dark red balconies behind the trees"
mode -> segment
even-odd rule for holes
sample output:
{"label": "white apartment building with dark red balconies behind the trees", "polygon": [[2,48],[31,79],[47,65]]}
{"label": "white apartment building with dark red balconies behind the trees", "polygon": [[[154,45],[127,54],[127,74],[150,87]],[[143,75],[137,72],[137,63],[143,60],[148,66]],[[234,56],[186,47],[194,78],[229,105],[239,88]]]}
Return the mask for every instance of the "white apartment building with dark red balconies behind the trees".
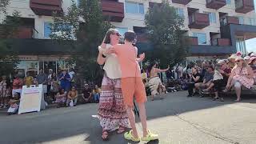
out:
{"label": "white apartment building with dark red balconies behind the trees", "polygon": [[[79,3],[81,0],[74,0]],[[102,13],[121,34],[134,30],[138,48],[150,49],[143,33],[145,14],[150,6],[162,0],[101,0]],[[184,17],[184,38],[189,42],[190,57],[212,58],[242,51],[245,41],[256,38],[254,0],[170,0],[177,13]],[[27,70],[66,67],[64,60],[70,48],[50,41],[52,11],[66,13],[71,0],[10,0],[7,13],[21,12],[22,23],[15,46],[22,59],[19,68]],[[1,20],[0,16],[0,20]]]}

